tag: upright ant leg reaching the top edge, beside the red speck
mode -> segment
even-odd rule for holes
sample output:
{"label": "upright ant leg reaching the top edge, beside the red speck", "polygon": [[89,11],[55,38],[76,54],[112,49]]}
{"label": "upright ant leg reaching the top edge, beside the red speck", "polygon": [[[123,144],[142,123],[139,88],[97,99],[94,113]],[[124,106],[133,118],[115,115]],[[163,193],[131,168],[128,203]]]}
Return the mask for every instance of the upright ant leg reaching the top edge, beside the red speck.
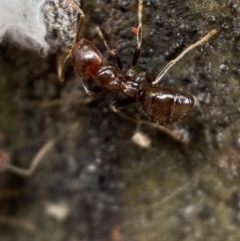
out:
{"label": "upright ant leg reaching the top edge, beside the red speck", "polygon": [[127,75],[133,76],[135,73],[135,67],[137,65],[138,59],[141,53],[142,46],[142,9],[143,9],[143,0],[138,1],[138,28],[137,28],[137,47],[134,51],[131,68],[128,70]]}

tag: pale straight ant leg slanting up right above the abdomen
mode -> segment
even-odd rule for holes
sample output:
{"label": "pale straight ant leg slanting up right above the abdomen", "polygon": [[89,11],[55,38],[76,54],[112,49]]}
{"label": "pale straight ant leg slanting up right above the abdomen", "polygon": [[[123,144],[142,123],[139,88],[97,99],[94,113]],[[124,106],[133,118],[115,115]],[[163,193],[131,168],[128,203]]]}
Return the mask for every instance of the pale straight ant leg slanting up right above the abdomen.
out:
{"label": "pale straight ant leg slanting up right above the abdomen", "polygon": [[156,86],[157,84],[159,84],[160,80],[162,79],[162,77],[168,72],[168,70],[170,68],[173,67],[173,65],[175,65],[177,63],[177,61],[179,61],[186,53],[188,53],[189,51],[191,51],[192,49],[196,48],[197,46],[199,46],[200,44],[208,41],[214,34],[217,33],[217,30],[214,29],[211,32],[209,32],[207,35],[205,35],[203,38],[201,38],[199,41],[197,41],[195,44],[190,45],[188,48],[186,48],[177,58],[171,60],[164,68],[163,70],[158,74],[158,76],[156,77],[156,79],[152,82],[152,86]]}

